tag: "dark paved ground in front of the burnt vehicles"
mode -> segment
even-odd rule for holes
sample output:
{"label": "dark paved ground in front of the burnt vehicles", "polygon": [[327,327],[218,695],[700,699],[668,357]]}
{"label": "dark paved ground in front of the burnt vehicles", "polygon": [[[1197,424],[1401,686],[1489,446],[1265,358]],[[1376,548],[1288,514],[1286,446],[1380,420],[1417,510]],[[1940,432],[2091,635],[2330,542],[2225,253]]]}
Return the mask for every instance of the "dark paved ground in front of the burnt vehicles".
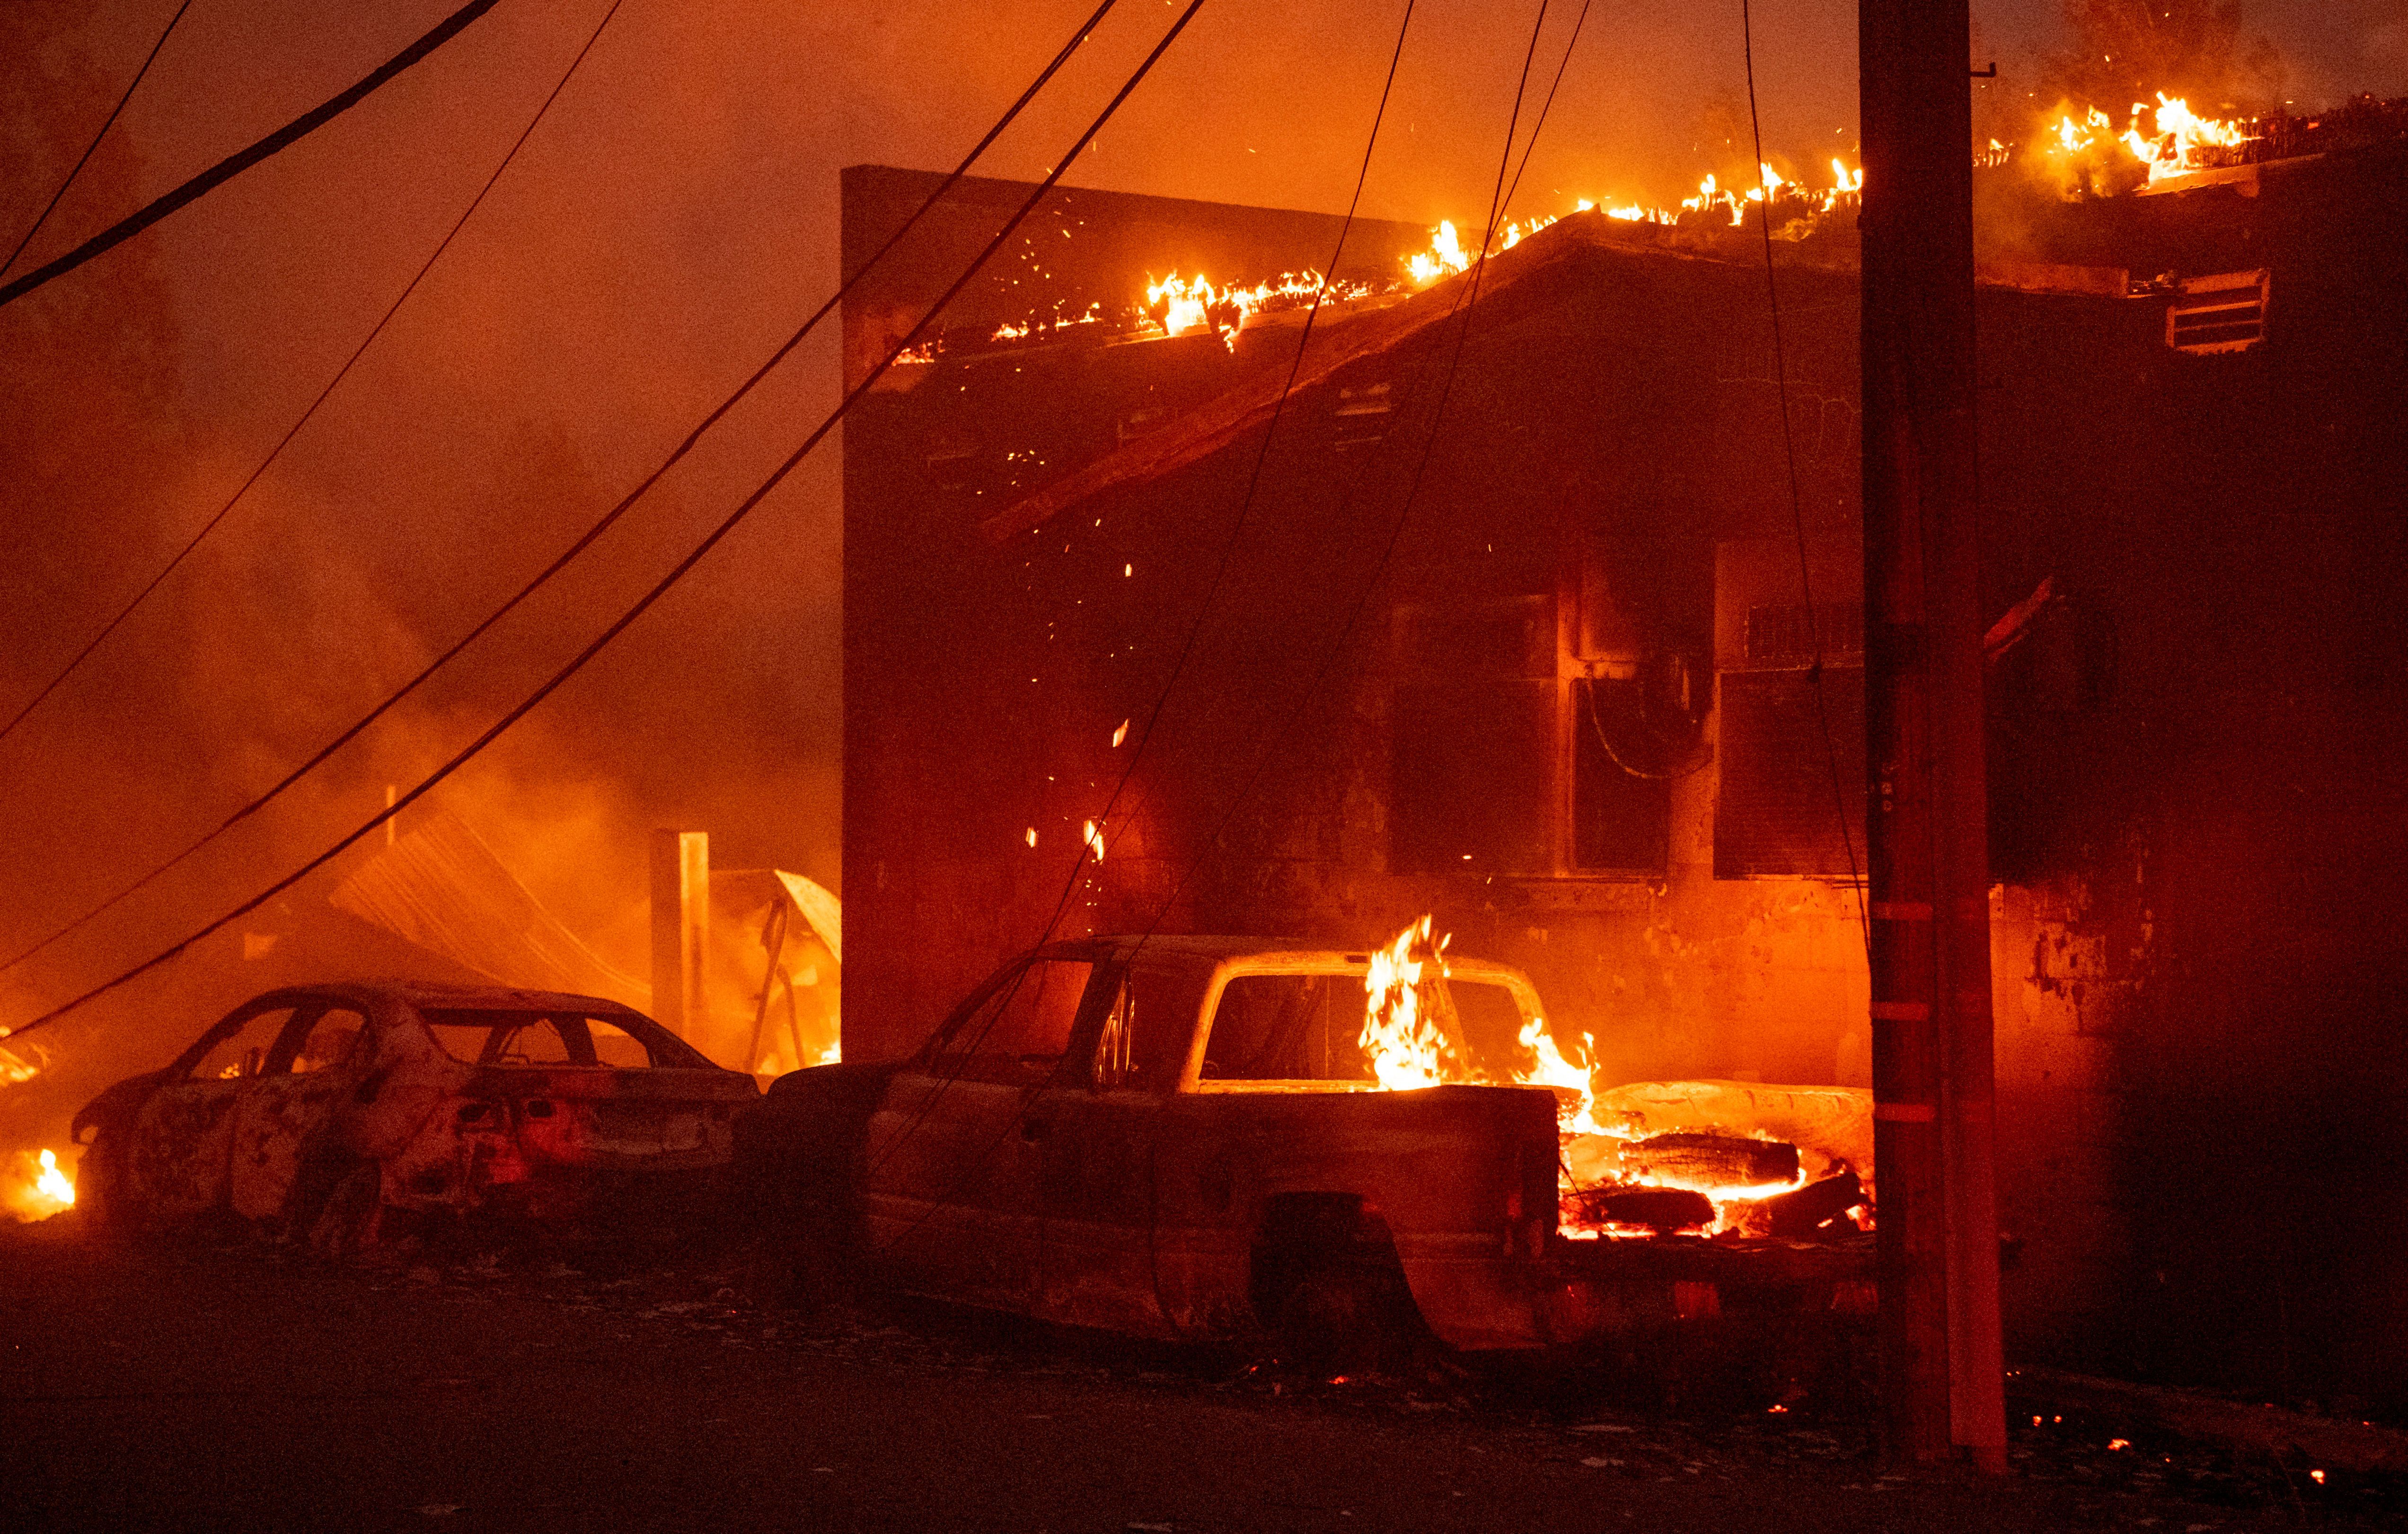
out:
{"label": "dark paved ground in front of the burnt vehicles", "polygon": [[[1861,1423],[1577,1387],[1298,1380],[946,1312],[802,1320],[727,1272],[330,1269],[0,1228],[10,1529],[2225,1529],[2316,1486],[2081,1423],[1893,1479]],[[2160,1452],[2162,1450],[2162,1452]],[[2179,1491],[2177,1491],[2179,1486]]]}

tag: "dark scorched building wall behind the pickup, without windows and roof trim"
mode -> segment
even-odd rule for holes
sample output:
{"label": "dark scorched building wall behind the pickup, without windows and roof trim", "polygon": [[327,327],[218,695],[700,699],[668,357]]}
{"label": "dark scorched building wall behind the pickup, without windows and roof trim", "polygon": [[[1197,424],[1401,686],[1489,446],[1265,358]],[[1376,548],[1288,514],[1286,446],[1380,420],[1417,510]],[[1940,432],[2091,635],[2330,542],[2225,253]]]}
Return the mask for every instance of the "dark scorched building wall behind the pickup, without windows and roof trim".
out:
{"label": "dark scorched building wall behind the pickup, without windows and roof trim", "polygon": [[[2384,1402],[2408,1394],[2391,1170],[2408,1163],[2408,229],[2396,159],[2300,176],[2256,200],[2037,219],[2064,222],[2042,258],[2273,267],[2254,352],[2167,352],[2162,299],[1982,301],[1984,604],[2042,578],[2059,597],[1991,679],[2003,1296],[2023,1358]],[[2374,212],[2367,181],[2391,188]],[[1780,279],[1801,525],[1763,270],[1635,248],[1483,303],[1459,359],[1440,335],[1298,395],[1252,501],[1259,436],[997,547],[973,530],[992,501],[925,472],[937,395],[857,419],[848,1055],[908,1050],[1047,930],[1363,946],[1433,913],[1457,949],[1536,978],[1599,1081],[1866,1084],[1854,886],[1717,877],[1719,713],[1700,732],[1712,759],[1664,787],[1662,869],[1394,872],[1397,708],[1430,667],[1416,614],[1527,616],[1527,650],[1476,626],[1450,638],[1507,720],[1512,698],[1584,686],[1565,638],[1584,537],[1717,571],[1705,621],[1693,600],[1649,616],[1654,648],[1705,674],[1731,667],[1743,576],[1787,568],[1767,549],[1804,532],[1808,568],[1847,564],[1854,284]],[[944,376],[951,409],[973,400],[1002,443],[1197,400],[1247,364],[1127,347],[1086,395],[1096,359],[980,366],[985,383]],[[1363,421],[1336,414],[1344,390],[1375,383],[1399,405],[1380,441],[1348,446]],[[1556,730],[1539,775],[1500,722],[1495,792],[1560,802],[1577,710],[1527,718]],[[1464,795],[1483,857],[1493,812]],[[1110,855],[1072,881],[1096,816]],[[1512,857],[1560,862],[1560,831],[1534,836],[1556,852]]]}

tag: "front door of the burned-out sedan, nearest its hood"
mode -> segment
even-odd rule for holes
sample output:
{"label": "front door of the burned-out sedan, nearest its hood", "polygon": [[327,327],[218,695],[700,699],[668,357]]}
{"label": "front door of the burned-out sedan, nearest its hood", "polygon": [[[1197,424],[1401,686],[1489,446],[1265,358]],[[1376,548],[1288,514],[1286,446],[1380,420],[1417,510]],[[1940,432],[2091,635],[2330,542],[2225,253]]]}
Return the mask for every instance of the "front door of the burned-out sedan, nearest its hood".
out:
{"label": "front door of the burned-out sedan, nearest its hood", "polygon": [[128,1154],[135,1206],[188,1219],[226,1204],[236,1108],[243,1088],[267,1072],[294,1009],[289,995],[246,1002],[166,1069],[135,1115]]}

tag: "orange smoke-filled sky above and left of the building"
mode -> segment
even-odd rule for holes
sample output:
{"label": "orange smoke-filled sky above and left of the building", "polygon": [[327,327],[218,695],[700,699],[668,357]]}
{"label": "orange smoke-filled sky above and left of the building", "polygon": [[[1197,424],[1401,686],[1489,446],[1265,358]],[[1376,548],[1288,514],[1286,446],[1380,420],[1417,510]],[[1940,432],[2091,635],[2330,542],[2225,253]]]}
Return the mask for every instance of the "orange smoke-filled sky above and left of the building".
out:
{"label": "orange smoke-filled sky above and left of the building", "polygon": [[[352,84],[455,0],[195,0],[22,265]],[[501,0],[359,111],[0,311],[0,718],[205,523],[359,344],[609,0]],[[626,0],[518,164],[361,366],[188,568],[0,742],[0,939],[22,949],[217,824],[551,559],[836,284],[848,164],[944,169],[1091,0]],[[12,246],[173,0],[22,0],[0,19]],[[1214,0],[1072,171],[1076,185],[1344,207],[1394,0]],[[1423,0],[1363,212],[1486,207],[1536,5]],[[1541,77],[1577,5],[1556,0]],[[1038,176],[1175,10],[1127,0],[980,166]],[[2302,104],[2408,94],[2398,0],[2259,0]],[[2003,92],[2042,89],[2054,0],[1977,7]],[[1854,5],[1763,0],[1767,149],[1854,149]],[[1519,212],[1671,197],[1743,164],[1739,5],[1597,5]],[[1736,113],[1736,116],[1734,116]],[[19,267],[22,270],[22,267]],[[1259,277],[1228,272],[1221,277]],[[272,824],[161,886],[12,1014],[181,937],[325,845],[583,645],[836,400],[833,325],[563,590],[332,763]],[[833,443],[445,802],[566,915],[641,896],[638,833],[831,884],[838,756]]]}

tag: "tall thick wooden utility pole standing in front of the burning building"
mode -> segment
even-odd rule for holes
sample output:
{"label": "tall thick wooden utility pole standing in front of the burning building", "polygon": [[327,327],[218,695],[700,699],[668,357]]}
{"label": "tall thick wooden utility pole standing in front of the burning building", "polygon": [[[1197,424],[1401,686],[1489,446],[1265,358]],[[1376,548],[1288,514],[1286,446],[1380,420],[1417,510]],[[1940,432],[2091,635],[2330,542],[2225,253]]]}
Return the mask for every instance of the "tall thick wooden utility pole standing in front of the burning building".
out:
{"label": "tall thick wooden utility pole standing in front of the burning building", "polygon": [[2003,1471],[1967,5],[1859,0],[1857,48],[1881,1397],[1895,1459]]}

